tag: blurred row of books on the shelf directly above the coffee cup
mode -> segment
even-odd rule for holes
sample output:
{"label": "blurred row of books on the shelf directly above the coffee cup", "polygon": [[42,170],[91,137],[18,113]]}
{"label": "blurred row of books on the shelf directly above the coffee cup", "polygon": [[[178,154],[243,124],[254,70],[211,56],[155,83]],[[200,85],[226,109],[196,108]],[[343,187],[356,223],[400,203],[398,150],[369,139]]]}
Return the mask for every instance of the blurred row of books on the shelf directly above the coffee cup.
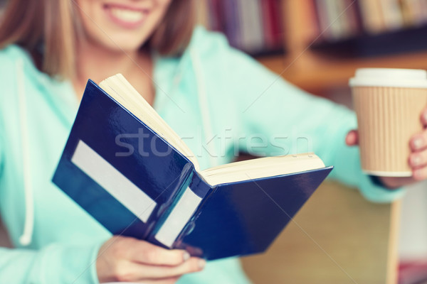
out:
{"label": "blurred row of books on the shelf directly above the coffee cup", "polygon": [[427,23],[425,0],[312,0],[324,40],[378,35]]}

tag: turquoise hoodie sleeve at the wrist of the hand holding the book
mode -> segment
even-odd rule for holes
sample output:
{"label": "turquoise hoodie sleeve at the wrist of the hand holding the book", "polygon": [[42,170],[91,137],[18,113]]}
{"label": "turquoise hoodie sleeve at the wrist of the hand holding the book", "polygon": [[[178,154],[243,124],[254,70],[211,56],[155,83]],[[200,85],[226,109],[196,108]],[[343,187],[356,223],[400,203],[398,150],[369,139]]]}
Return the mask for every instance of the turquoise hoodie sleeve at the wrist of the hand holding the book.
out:
{"label": "turquoise hoodie sleeve at the wrist of the hand holding the book", "polygon": [[0,283],[97,284],[99,245],[51,244],[38,251],[0,248]]}

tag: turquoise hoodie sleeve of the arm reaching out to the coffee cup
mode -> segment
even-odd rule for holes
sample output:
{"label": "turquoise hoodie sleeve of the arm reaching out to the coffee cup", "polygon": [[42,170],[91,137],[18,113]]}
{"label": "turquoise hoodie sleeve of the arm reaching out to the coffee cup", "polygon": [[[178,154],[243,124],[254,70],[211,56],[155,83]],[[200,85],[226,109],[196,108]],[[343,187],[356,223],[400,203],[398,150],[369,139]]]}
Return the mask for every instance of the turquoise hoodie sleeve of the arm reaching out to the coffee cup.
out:
{"label": "turquoise hoodie sleeve of the arm reaching out to the coffee cup", "polygon": [[[259,139],[242,139],[239,144],[245,144],[243,151],[260,155],[313,151],[325,165],[334,165],[330,178],[358,187],[368,200],[391,202],[404,194],[402,189],[375,185],[362,173],[359,148],[345,144],[347,132],[357,128],[353,111],[286,82],[253,58],[229,47],[222,35],[209,35],[201,28],[198,33],[206,70],[215,72],[211,77],[222,75],[221,84],[226,82],[215,94],[216,99],[211,100],[217,109],[212,112],[225,113],[223,102],[230,102],[233,97],[235,104],[230,112],[237,113],[235,127],[241,129],[239,137],[257,134],[264,139],[262,147]],[[230,117],[233,116],[224,119],[229,121]]]}

